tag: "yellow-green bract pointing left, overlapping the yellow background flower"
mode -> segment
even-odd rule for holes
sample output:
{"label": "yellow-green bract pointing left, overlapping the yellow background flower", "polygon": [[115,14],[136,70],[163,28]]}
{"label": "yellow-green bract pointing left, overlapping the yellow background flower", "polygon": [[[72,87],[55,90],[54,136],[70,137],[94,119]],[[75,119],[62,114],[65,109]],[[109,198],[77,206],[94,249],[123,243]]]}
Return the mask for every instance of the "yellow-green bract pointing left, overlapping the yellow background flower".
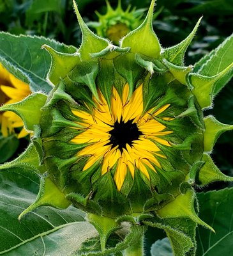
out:
{"label": "yellow-green bract pointing left, overlapping the yellow background flower", "polygon": [[34,131],[34,125],[40,122],[40,109],[46,100],[47,96],[42,93],[33,93],[20,102],[2,106],[0,111],[13,111],[22,118],[27,130]]}

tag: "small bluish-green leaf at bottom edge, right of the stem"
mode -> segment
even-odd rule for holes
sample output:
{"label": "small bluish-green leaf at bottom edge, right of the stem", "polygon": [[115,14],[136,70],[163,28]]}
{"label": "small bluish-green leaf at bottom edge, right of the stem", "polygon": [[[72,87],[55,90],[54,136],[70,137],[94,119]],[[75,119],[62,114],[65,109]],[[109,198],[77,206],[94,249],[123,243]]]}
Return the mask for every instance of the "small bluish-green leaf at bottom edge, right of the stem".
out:
{"label": "small bluish-green leaf at bottom edge, right of the stem", "polygon": [[151,256],[173,256],[172,246],[167,237],[157,240],[151,246]]}

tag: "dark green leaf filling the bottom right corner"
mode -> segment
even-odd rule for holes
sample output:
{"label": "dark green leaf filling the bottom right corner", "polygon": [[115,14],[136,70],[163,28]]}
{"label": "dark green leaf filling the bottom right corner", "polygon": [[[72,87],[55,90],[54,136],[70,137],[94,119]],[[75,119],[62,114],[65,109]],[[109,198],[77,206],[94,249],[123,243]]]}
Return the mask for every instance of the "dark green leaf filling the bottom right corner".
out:
{"label": "dark green leaf filling the bottom right corner", "polygon": [[202,220],[211,225],[216,234],[206,228],[197,230],[197,255],[232,255],[233,250],[233,188],[199,193]]}

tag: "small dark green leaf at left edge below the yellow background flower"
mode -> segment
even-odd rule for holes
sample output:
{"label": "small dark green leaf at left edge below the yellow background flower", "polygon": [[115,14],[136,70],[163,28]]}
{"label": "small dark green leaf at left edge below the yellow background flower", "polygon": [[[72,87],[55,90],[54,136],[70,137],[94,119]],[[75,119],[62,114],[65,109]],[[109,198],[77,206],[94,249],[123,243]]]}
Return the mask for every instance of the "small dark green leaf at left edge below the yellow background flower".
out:
{"label": "small dark green leaf at left edge below the yellow background flower", "polygon": [[19,140],[16,138],[15,134],[8,137],[0,135],[0,164],[13,156],[18,147]]}

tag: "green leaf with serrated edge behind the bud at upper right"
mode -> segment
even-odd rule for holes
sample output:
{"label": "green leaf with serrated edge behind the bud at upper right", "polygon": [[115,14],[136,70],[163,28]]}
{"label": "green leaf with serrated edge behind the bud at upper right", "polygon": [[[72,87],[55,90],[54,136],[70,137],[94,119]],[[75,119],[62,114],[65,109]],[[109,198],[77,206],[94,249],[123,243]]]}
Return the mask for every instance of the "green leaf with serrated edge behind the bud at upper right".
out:
{"label": "green leaf with serrated edge behind the bud at upper right", "polygon": [[[208,58],[208,59],[207,59]],[[204,61],[197,63],[199,65],[198,73],[202,76],[215,76],[232,64],[233,60],[233,34],[227,37],[222,44],[211,51],[209,55],[204,56]],[[195,65],[195,66],[196,66]],[[195,67],[194,67],[195,68]],[[222,90],[233,76],[233,68],[229,70],[214,86],[213,95]]]}

